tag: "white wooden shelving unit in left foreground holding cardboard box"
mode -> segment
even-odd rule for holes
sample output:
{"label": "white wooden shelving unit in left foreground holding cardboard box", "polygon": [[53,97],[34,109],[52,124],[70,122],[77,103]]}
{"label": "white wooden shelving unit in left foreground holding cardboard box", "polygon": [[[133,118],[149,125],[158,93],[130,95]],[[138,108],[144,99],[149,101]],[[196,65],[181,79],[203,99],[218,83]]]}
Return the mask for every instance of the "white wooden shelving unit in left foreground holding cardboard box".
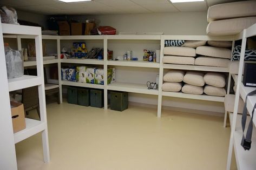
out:
{"label": "white wooden shelving unit in left foreground holding cardboard box", "polygon": [[[0,23],[1,24],[1,23]],[[2,83],[1,83],[1,108],[2,113],[0,115],[0,126],[1,129],[1,152],[0,152],[0,167],[1,169],[17,169],[15,146],[19,141],[27,139],[34,134],[42,133],[42,144],[44,162],[50,161],[49,144],[48,144],[48,131],[47,131],[47,115],[45,108],[45,93],[44,93],[44,78],[43,78],[43,58],[42,58],[42,36],[41,28],[34,26],[22,26],[12,24],[1,24],[0,25],[0,45],[1,49],[3,46],[3,33],[11,35],[31,35],[35,38],[36,45],[36,66],[37,76],[22,76],[14,79],[7,79],[6,66],[5,66],[5,55],[4,51],[1,50],[1,72],[2,72]],[[11,36],[15,37],[15,36]],[[9,103],[9,91],[19,90],[27,87],[38,86],[38,96],[40,103],[41,120],[25,119],[26,128],[17,133],[12,132],[11,122],[11,109]],[[4,90],[4,91],[2,91]],[[3,133],[4,132],[4,133]]]}

